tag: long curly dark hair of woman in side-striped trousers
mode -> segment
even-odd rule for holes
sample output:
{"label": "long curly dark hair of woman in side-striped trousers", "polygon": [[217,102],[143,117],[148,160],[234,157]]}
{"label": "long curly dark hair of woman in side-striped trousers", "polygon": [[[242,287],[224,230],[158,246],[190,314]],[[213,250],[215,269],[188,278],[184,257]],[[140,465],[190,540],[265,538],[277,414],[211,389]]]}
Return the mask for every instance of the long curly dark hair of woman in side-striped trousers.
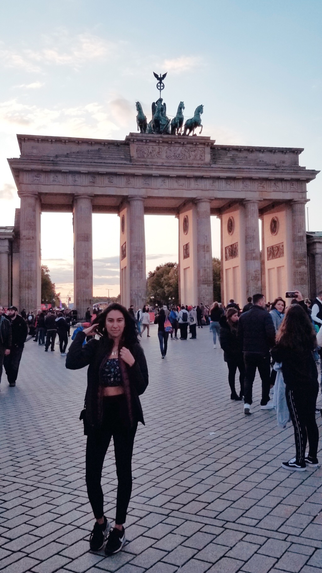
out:
{"label": "long curly dark hair of woman in side-striped trousers", "polygon": [[303,352],[315,350],[316,333],[307,312],[299,304],[286,308],[284,319],[276,334],[276,343],[282,348]]}

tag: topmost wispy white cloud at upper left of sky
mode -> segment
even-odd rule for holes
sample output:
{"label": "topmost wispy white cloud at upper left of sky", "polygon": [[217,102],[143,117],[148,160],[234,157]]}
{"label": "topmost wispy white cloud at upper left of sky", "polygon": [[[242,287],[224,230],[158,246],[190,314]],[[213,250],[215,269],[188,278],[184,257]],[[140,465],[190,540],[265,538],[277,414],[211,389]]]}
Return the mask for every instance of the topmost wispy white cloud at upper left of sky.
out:
{"label": "topmost wispy white cloud at upper left of sky", "polygon": [[115,56],[121,42],[110,42],[91,33],[72,36],[68,30],[57,30],[51,36],[41,36],[40,49],[21,49],[19,52],[0,49],[0,61],[7,68],[23,68],[26,72],[40,72],[41,66],[72,66],[81,68],[85,62],[106,60]]}

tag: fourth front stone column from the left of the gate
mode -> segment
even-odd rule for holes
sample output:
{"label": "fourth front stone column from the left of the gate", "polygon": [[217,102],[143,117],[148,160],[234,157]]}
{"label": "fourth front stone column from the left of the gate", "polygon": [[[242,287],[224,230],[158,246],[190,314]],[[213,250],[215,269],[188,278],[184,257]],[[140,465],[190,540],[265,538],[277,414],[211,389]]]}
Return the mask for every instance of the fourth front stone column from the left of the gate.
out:
{"label": "fourth front stone column from the left of the gate", "polygon": [[197,199],[197,272],[198,304],[211,304],[213,289],[213,258],[209,199]]}

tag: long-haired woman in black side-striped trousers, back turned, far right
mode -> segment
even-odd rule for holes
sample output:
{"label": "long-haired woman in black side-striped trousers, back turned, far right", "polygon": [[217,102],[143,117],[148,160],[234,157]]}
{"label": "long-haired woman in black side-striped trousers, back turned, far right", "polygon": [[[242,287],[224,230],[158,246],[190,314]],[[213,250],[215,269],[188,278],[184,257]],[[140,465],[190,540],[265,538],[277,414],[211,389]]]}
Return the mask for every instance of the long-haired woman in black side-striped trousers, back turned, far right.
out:
{"label": "long-haired woman in black side-striped trousers, back turned, far right", "polygon": [[[307,465],[316,467],[319,463],[319,429],[315,420],[319,383],[312,355],[316,346],[316,334],[309,316],[299,304],[290,305],[278,329],[272,358],[281,363],[286,402],[294,426],[296,457],[282,462],[282,468],[297,472],[304,472]],[[306,455],[307,441],[309,452]]]}

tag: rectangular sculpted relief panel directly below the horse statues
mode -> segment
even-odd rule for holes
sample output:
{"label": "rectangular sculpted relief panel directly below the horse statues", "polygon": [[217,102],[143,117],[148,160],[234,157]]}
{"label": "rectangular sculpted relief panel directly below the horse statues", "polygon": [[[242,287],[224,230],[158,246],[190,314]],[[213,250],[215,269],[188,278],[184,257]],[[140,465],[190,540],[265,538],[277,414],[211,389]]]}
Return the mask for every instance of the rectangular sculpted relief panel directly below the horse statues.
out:
{"label": "rectangular sculpted relief panel directly below the horse statues", "polygon": [[137,159],[205,162],[204,147],[138,145],[135,150]]}

